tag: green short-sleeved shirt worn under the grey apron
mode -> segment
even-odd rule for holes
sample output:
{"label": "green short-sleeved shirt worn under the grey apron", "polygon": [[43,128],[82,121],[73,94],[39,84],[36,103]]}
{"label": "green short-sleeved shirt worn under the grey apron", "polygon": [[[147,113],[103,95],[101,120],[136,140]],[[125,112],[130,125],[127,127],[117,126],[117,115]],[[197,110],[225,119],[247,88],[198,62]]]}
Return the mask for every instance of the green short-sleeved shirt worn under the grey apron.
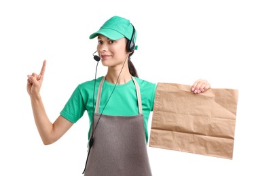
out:
{"label": "green short-sleeved shirt worn under the grey apron", "polygon": [[[149,120],[149,114],[153,111],[153,102],[156,93],[156,84],[149,83],[137,77],[134,77],[139,84],[141,90],[141,102],[144,115],[144,127],[146,140],[148,141],[148,131],[147,124]],[[87,81],[78,85],[73,91],[73,94],[69,98],[67,104],[60,112],[67,120],[71,123],[76,123],[81,116],[84,115],[84,112],[88,112],[90,127],[92,125],[92,114],[93,114],[93,102],[94,108],[96,104],[96,96],[98,93],[98,85],[103,79],[103,76],[96,79],[94,100],[94,80]],[[105,107],[103,114],[106,115],[117,115],[117,116],[134,116],[139,114],[138,102],[136,97],[136,87],[132,80],[128,83],[122,85],[116,85],[115,90],[113,91],[115,84],[109,83],[106,80],[103,83],[103,91],[100,98],[100,108],[99,113],[102,113],[104,106]],[[111,92],[113,94],[111,95]],[[111,95],[110,99],[109,96]],[[109,99],[109,102],[107,100]],[[90,136],[90,130],[88,133]]]}

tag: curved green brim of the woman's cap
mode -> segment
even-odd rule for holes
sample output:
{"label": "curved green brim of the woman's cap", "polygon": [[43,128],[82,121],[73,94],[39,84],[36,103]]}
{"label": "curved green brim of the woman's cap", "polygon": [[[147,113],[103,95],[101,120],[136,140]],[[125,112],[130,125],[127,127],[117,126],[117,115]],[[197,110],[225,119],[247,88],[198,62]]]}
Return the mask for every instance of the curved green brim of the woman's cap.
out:
{"label": "curved green brim of the woman's cap", "polygon": [[111,40],[118,40],[124,37],[124,35],[120,34],[120,32],[117,32],[116,30],[109,28],[101,28],[97,32],[94,32],[92,35],[90,35],[89,39],[94,39],[98,35],[104,35],[105,37]]}

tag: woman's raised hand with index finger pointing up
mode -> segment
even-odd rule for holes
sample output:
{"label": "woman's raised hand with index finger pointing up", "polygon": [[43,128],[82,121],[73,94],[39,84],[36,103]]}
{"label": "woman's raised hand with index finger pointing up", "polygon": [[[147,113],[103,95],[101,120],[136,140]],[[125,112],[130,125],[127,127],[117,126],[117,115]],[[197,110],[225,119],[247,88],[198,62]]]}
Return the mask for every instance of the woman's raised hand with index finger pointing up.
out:
{"label": "woman's raised hand with index finger pointing up", "polygon": [[28,91],[30,96],[39,96],[41,85],[43,83],[43,74],[45,72],[46,60],[43,61],[43,66],[41,68],[40,74],[33,72],[28,75],[26,91]]}

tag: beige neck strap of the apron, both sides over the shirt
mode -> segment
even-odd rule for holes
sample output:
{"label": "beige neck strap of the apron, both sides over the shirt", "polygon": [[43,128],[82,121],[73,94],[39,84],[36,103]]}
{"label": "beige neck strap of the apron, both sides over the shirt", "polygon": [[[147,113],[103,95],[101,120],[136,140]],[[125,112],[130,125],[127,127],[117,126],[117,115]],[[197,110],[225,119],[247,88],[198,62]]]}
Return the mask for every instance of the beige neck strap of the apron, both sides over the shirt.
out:
{"label": "beige neck strap of the apron, both sides over the shirt", "polygon": [[[105,78],[106,77],[103,76],[103,79],[100,81],[100,85],[98,85],[98,94],[97,94],[97,99],[96,99],[95,113],[99,112],[100,97],[101,97],[101,92],[103,90],[103,83],[105,81]],[[139,107],[139,114],[143,114],[142,105],[141,105],[141,91],[140,91],[140,87],[139,87],[139,84],[137,83],[137,81],[134,79],[133,76],[132,76],[132,81],[134,82],[134,85],[136,87],[137,101],[138,101],[138,107]]]}

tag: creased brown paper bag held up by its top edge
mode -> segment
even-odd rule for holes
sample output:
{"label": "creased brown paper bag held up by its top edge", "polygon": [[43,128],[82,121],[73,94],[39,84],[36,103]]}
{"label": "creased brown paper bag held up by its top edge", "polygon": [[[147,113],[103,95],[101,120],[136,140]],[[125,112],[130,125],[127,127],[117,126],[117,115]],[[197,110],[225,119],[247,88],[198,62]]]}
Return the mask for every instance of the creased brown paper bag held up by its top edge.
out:
{"label": "creased brown paper bag held up by its top edge", "polygon": [[238,90],[158,83],[149,146],[232,159]]}

